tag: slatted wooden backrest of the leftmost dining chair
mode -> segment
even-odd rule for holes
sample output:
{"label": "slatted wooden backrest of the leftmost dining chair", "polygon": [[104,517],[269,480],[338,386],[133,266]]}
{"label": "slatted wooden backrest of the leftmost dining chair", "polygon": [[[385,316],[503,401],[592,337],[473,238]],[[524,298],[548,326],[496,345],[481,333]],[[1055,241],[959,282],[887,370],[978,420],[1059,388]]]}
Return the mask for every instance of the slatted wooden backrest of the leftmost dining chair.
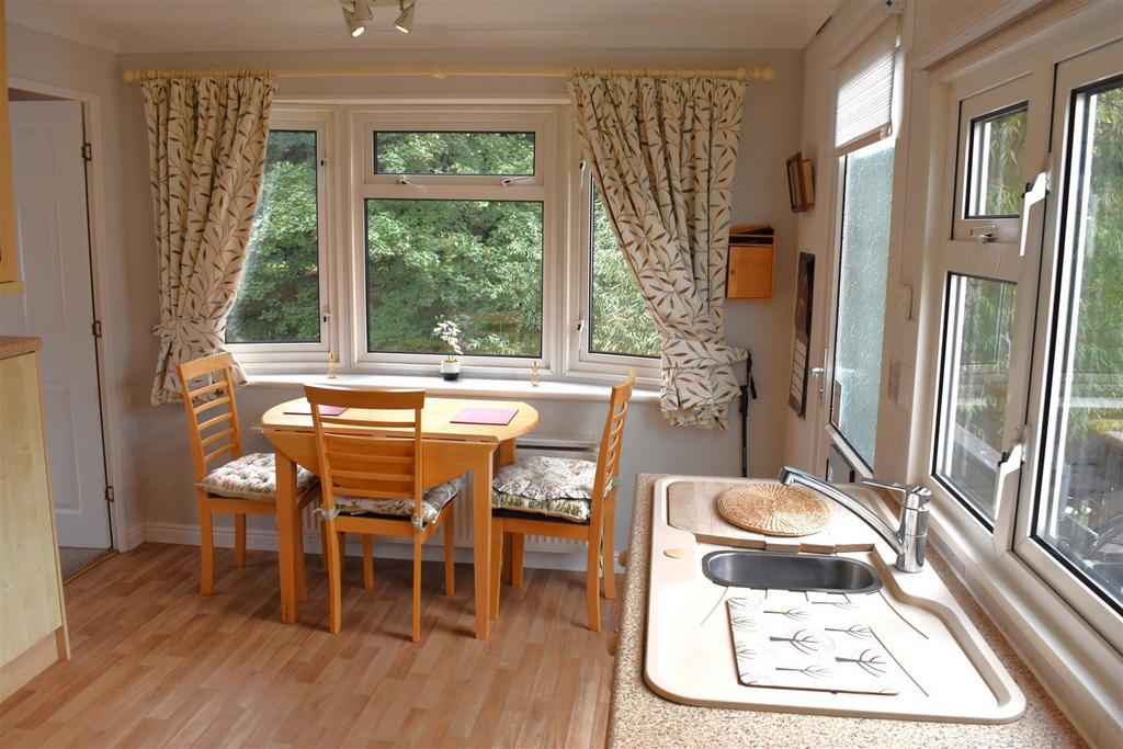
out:
{"label": "slatted wooden backrest of the leftmost dining chair", "polygon": [[230,355],[226,353],[176,366],[197,482],[217,458],[227,456],[221,463],[228,463],[241,457],[241,426],[231,368]]}

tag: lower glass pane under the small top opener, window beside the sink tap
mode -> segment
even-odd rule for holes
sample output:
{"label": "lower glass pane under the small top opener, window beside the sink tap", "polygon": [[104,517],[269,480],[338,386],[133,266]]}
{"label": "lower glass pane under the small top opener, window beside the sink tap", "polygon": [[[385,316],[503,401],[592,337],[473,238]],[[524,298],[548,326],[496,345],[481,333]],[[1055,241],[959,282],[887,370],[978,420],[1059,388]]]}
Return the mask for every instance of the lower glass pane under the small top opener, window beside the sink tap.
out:
{"label": "lower glass pane under the small top opener, window beside the sink tap", "polygon": [[1015,285],[952,274],[937,475],[994,522],[1010,383]]}

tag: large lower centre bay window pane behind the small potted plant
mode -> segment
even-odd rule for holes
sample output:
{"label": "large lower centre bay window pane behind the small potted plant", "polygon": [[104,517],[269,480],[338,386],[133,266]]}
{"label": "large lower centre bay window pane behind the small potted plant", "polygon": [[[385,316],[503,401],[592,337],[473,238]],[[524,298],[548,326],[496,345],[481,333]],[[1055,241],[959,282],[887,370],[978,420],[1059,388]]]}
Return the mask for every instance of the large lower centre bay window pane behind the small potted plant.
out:
{"label": "large lower centre bay window pane behind the small potted plant", "polygon": [[540,356],[542,204],[497,200],[366,201],[367,348]]}

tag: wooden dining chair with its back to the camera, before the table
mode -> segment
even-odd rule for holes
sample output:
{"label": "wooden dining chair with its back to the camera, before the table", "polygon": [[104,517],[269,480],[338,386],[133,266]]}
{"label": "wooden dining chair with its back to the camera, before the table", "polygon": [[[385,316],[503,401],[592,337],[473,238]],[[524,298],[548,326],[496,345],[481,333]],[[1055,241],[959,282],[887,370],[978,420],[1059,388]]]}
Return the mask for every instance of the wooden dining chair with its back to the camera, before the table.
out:
{"label": "wooden dining chair with its back to the camera, before the table", "polygon": [[[445,529],[445,593],[455,592],[453,500],[464,487],[457,476],[433,488],[423,486],[421,410],[423,390],[357,390],[305,385],[320,456],[322,501],[317,511],[327,527],[328,629],[343,627],[340,533],[363,537],[364,586],[373,587],[369,538],[413,540],[413,631],[421,639],[421,546]],[[321,412],[320,407],[346,409]],[[347,410],[374,410],[348,415]]]}

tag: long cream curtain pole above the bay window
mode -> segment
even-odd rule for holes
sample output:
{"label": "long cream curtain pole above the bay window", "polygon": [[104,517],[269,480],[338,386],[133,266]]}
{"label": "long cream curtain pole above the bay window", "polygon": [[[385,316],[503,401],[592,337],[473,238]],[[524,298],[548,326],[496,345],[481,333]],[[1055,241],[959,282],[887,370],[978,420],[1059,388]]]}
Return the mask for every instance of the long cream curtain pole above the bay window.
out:
{"label": "long cream curtain pole above the bay window", "polygon": [[168,77],[237,77],[243,75],[273,75],[274,77],[366,77],[366,76],[426,76],[444,81],[448,77],[570,77],[573,75],[602,76],[654,76],[654,77],[688,77],[707,76],[734,81],[773,81],[776,68],[772,66],[739,67],[737,70],[674,70],[664,67],[542,67],[522,70],[485,70],[485,68],[442,68],[439,65],[430,67],[409,68],[375,68],[375,67],[334,67],[334,68],[280,68],[243,67],[235,70],[127,70],[121,77],[129,83]]}

